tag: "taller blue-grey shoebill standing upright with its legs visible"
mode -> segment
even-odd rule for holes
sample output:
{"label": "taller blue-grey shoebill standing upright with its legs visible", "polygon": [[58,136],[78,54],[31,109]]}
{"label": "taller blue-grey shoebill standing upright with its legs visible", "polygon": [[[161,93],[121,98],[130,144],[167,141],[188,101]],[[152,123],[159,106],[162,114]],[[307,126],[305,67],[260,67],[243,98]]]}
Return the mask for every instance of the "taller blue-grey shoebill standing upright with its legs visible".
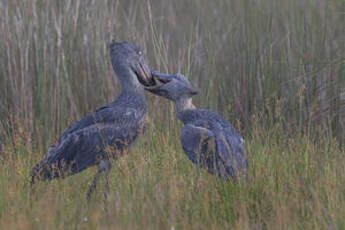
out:
{"label": "taller blue-grey shoebill standing upright with its legs visible", "polygon": [[152,80],[150,70],[136,45],[112,42],[109,49],[122,86],[121,95],[71,125],[49,148],[46,158],[32,169],[32,183],[70,176],[98,165],[87,193],[89,199],[104,171],[108,189],[109,158],[121,156],[142,132],[147,112],[143,85],[149,85]]}

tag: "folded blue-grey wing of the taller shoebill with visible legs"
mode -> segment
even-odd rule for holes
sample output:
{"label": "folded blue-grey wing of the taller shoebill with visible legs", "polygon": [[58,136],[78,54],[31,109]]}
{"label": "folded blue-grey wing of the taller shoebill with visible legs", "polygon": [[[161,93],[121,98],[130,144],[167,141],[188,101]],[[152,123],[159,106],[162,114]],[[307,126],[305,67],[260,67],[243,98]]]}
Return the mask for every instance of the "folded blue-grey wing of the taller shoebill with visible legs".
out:
{"label": "folded blue-grey wing of the taller shoebill with visible legs", "polygon": [[140,120],[132,108],[104,107],[89,114],[49,148],[46,159],[33,168],[32,179],[38,176],[52,179],[80,172],[108,157],[107,147],[113,148],[111,153],[117,157],[137,139]]}

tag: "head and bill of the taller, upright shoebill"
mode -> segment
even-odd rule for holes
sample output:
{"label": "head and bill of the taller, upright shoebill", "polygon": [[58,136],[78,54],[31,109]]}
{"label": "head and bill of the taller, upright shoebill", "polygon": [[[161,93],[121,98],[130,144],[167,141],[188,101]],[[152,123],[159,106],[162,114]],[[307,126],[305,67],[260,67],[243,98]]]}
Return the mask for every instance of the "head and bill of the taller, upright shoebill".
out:
{"label": "head and bill of the taller, upright shoebill", "polygon": [[109,45],[111,63],[122,84],[131,82],[144,86],[153,84],[151,71],[140,48],[129,42],[115,42]]}

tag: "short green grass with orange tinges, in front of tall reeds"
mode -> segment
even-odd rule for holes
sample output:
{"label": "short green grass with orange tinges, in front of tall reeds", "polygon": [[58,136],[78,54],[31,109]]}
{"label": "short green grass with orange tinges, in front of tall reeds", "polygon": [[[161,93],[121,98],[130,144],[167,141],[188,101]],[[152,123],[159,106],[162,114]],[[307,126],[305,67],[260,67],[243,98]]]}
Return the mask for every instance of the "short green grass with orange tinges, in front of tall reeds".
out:
{"label": "short green grass with orange tinges, in front of tall reeds", "polygon": [[[113,162],[109,216],[102,180],[87,205],[96,169],[31,190],[37,154],[25,136],[0,168],[4,229],[342,229],[345,156],[335,143],[260,128],[247,141],[249,180],[223,182],[192,165],[174,132],[149,128],[131,153]],[[24,138],[24,140],[22,139]],[[84,218],[87,217],[87,221]]]}

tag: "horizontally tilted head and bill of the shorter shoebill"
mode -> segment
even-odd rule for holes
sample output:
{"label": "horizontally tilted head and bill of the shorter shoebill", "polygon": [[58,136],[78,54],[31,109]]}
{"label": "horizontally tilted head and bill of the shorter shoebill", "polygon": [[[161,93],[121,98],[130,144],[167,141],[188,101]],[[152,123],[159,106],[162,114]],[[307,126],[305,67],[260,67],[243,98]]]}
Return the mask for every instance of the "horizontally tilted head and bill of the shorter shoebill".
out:
{"label": "horizontally tilted head and bill of the shorter shoebill", "polygon": [[151,71],[152,84],[146,86],[145,90],[153,94],[165,97],[172,101],[180,100],[181,98],[191,98],[197,94],[188,81],[182,74],[163,74],[158,71]]}

